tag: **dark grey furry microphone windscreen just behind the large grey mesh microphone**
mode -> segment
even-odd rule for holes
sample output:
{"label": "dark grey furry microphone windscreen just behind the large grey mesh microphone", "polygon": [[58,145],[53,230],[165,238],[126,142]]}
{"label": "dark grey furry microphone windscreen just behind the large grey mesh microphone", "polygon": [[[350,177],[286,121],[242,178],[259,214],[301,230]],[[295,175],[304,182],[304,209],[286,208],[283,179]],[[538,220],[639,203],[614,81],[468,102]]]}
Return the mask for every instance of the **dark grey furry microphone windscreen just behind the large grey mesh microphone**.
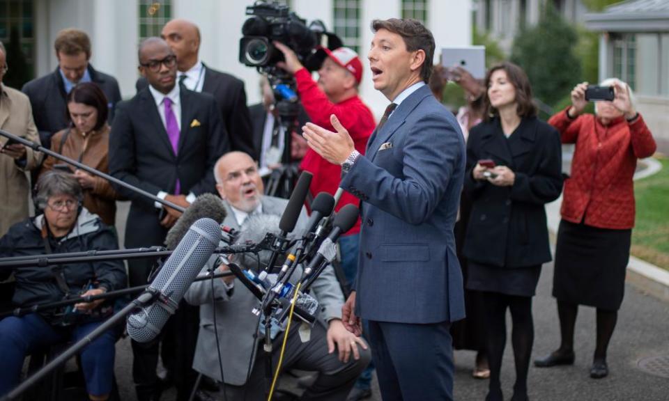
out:
{"label": "dark grey furry microphone windscreen just behind the large grey mesh microphone", "polygon": [[167,237],[165,237],[167,249],[175,249],[195,221],[208,217],[221,224],[226,215],[225,205],[221,198],[214,194],[198,196],[167,232]]}

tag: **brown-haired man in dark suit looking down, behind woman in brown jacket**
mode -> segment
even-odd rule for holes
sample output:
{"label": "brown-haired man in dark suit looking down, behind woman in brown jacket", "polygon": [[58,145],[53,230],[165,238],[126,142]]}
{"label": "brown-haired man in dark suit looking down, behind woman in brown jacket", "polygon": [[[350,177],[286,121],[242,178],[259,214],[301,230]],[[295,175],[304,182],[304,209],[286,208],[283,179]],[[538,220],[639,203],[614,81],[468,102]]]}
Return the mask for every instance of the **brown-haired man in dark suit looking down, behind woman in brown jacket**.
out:
{"label": "brown-haired man in dark suit looking down, behind woman in brown jacket", "polygon": [[50,148],[51,136],[68,126],[66,97],[79,82],[95,82],[107,97],[109,123],[114,119],[114,107],[121,101],[116,78],[103,74],[89,63],[91,40],[79,29],[63,29],[54,43],[58,68],[50,74],[29,81],[23,86],[33,108],[35,125],[42,146]]}

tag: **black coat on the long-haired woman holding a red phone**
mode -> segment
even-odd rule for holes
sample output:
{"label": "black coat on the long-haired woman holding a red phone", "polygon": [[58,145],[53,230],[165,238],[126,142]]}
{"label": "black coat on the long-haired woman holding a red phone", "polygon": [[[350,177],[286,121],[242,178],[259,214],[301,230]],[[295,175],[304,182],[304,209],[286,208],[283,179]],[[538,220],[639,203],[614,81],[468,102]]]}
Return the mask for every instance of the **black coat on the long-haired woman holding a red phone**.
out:
{"label": "black coat on the long-haired woman holding a red phone", "polygon": [[[508,166],[512,187],[472,178],[481,159]],[[551,260],[544,204],[562,191],[560,134],[535,117],[523,118],[505,137],[499,118],[473,127],[467,142],[464,188],[472,198],[464,255],[475,262],[528,267]]]}

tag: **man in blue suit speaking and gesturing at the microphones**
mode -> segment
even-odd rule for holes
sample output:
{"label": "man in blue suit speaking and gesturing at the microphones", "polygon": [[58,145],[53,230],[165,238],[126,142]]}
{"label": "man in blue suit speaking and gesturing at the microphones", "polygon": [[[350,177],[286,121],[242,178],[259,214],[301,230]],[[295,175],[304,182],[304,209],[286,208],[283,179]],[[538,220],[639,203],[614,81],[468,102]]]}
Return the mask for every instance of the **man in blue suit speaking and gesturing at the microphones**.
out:
{"label": "man in blue suit speaking and gesturing at the microphones", "polygon": [[374,88],[392,103],[361,156],[332,115],[303,128],[362,200],[360,266],[343,320],[369,340],[383,400],[452,400],[449,326],[464,317],[453,226],[465,168],[459,125],[431,94],[434,38],[413,19],[374,20]]}

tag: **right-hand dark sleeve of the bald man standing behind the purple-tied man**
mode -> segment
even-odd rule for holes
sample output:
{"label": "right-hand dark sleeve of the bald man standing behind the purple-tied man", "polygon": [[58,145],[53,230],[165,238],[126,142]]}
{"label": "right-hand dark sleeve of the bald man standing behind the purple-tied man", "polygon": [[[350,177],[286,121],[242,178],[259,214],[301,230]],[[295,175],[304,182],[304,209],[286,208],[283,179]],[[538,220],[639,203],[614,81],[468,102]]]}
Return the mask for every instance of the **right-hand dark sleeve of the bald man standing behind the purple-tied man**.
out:
{"label": "right-hand dark sleeve of the bald man standing behind the purple-tied man", "polygon": [[257,160],[258,155],[256,155],[253,146],[253,129],[249,108],[246,105],[244,83],[238,82],[234,92],[232,109],[227,116],[224,116],[226,118],[226,130],[230,136],[231,150],[245,152],[254,160]]}

